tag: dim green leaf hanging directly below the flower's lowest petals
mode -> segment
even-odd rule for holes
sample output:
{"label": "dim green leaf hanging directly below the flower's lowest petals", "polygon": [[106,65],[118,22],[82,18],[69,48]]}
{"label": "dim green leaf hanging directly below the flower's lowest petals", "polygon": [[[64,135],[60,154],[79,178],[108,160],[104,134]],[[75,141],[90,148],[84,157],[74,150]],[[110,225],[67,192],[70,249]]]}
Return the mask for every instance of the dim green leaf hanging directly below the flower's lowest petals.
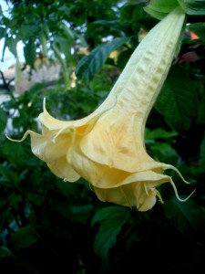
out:
{"label": "dim green leaf hanging directly below the flower's lowest petals", "polygon": [[119,206],[108,206],[99,209],[93,217],[91,225],[100,222],[95,237],[94,249],[102,261],[108,263],[108,251],[117,242],[118,234],[122,226],[128,221],[128,209]]}

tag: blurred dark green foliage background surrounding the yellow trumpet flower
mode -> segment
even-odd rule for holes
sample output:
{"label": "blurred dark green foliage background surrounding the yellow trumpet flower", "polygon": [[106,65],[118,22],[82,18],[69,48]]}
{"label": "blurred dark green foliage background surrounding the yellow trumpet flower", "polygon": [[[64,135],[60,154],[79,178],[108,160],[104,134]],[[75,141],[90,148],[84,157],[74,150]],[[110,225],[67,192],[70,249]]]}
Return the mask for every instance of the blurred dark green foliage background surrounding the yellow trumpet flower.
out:
{"label": "blurred dark green foliage background surrounding the yellow trumpet flower", "polygon": [[0,271],[198,273],[205,258],[205,22],[188,16],[178,56],[146,125],[146,148],[175,165],[164,204],[138,212],[98,201],[82,178],[51,174],[21,139],[46,108],[60,120],[94,111],[159,21],[148,1],[0,1]]}

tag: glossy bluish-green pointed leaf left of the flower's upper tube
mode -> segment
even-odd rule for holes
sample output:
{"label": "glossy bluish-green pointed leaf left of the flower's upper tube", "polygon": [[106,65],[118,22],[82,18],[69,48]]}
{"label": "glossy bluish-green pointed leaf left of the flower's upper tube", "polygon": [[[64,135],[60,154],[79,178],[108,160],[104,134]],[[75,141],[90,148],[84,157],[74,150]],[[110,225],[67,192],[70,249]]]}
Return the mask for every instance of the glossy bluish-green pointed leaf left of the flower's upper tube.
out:
{"label": "glossy bluish-green pointed leaf left of the flower's upper tube", "polygon": [[116,38],[107,44],[100,45],[90,52],[89,55],[82,58],[76,68],[77,78],[90,80],[105,64],[109,54],[128,42],[128,37]]}

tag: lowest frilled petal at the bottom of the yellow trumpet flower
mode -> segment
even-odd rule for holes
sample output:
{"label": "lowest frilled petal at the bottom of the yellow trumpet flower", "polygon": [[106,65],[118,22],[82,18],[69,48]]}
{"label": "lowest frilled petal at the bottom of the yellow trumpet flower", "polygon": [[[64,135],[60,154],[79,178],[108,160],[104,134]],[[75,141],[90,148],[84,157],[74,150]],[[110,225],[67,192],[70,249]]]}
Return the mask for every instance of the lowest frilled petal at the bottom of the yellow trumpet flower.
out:
{"label": "lowest frilled petal at the bottom of the yellow trumpet flower", "polygon": [[103,202],[129,207],[137,206],[139,211],[147,211],[155,205],[156,196],[162,202],[159,191],[155,187],[169,181],[168,175],[148,171],[129,175],[117,187],[100,188],[94,186],[94,191],[98,199]]}

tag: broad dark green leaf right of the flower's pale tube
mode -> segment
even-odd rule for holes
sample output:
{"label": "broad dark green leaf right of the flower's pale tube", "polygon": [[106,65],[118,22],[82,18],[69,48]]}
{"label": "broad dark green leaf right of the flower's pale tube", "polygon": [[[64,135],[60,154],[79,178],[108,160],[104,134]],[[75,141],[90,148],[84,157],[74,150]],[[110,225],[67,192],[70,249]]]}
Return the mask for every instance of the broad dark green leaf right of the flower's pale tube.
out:
{"label": "broad dark green leaf right of the flower's pale tube", "polygon": [[155,103],[155,109],[165,117],[169,126],[177,132],[187,131],[197,113],[198,82],[189,78],[186,70],[172,68],[169,77]]}

